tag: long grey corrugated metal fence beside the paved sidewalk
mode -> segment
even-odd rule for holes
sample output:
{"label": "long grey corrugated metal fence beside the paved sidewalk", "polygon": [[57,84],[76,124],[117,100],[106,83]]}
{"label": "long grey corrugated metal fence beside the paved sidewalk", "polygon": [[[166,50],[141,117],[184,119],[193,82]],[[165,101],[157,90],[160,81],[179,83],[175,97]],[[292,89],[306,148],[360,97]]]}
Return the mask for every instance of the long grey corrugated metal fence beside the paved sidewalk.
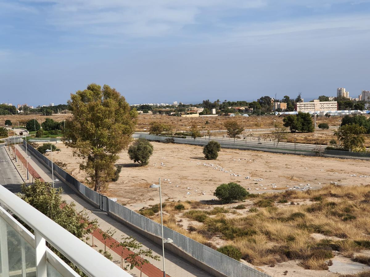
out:
{"label": "long grey corrugated metal fence beside the paved sidewalk", "polygon": [[[159,137],[162,138],[162,137]],[[163,137],[165,139],[165,137]],[[25,145],[25,141],[23,144]],[[51,161],[28,144],[28,150],[42,160],[50,169]],[[54,172],[56,172],[66,182],[73,185],[77,191],[83,196],[94,202],[102,211],[111,212],[119,218],[125,220],[131,225],[157,237],[161,237],[161,225],[137,212],[132,211],[110,199],[107,196],[101,195],[98,192],[86,187],[81,182],[77,181],[63,169],[53,164]],[[164,237],[170,237],[172,243],[178,249],[182,250],[192,258],[200,261],[209,268],[230,277],[269,277],[268,274],[256,270],[244,263],[241,263],[229,256],[226,256],[204,244],[196,242],[189,237],[186,237],[172,229],[164,227]]]}

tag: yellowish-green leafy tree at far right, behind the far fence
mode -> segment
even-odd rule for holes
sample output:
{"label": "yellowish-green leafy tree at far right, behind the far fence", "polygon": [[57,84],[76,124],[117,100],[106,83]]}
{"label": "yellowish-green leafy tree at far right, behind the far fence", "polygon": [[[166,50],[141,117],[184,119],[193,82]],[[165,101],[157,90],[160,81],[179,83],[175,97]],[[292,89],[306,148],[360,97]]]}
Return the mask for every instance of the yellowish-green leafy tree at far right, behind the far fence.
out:
{"label": "yellowish-green leafy tree at far right, behind the far fence", "polygon": [[344,149],[363,151],[363,143],[365,142],[363,134],[365,131],[364,127],[350,123],[341,126],[340,129],[334,132],[334,136],[337,136]]}

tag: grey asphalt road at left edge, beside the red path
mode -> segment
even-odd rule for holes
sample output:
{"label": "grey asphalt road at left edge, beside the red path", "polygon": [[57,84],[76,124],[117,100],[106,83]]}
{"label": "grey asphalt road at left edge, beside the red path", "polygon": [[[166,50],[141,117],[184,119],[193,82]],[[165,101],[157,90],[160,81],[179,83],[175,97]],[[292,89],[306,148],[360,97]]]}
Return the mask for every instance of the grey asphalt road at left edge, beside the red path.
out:
{"label": "grey asphalt road at left edge, beside the red path", "polygon": [[9,189],[11,192],[20,192],[20,185],[23,179],[11,162],[4,147],[0,147],[0,185]]}

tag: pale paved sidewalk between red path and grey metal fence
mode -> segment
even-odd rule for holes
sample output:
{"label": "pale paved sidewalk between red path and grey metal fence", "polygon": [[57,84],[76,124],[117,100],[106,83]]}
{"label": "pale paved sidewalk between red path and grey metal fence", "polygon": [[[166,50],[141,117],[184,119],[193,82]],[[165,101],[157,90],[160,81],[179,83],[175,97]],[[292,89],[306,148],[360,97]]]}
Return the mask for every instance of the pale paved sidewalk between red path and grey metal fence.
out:
{"label": "pale paved sidewalk between red path and grey metal fence", "polygon": [[[23,145],[17,145],[17,151],[26,157],[26,150]],[[28,152],[28,155],[31,158],[28,158],[29,164],[37,171],[37,173],[43,178],[46,182],[52,182],[51,171],[46,168],[43,163],[41,163],[32,153]],[[135,237],[138,242],[141,242],[144,245],[144,249],[152,249],[153,252],[162,257],[162,248],[152,242],[151,240],[147,239],[146,237],[134,232],[133,230],[129,229],[124,224],[117,222],[116,220],[112,219],[106,212],[101,211],[93,207],[92,205],[88,204],[82,198],[80,198],[73,189],[71,189],[67,184],[64,184],[60,180],[57,179],[54,175],[54,186],[55,188],[61,187],[63,188],[63,195],[62,198],[65,199],[67,202],[74,202],[76,204],[76,209],[82,210],[87,209],[91,211],[90,217],[92,219],[97,219],[98,224],[100,225],[100,229],[103,231],[108,230],[109,228],[117,229],[117,232],[114,235],[114,238],[119,240],[120,237],[123,236],[133,236]],[[155,261],[153,259],[148,259],[151,264],[153,264],[158,269],[163,269],[163,262]],[[188,261],[172,254],[168,250],[165,250],[165,263],[166,263],[166,273],[169,276],[174,277],[192,277],[192,276],[199,276],[199,277],[208,277],[211,274],[206,273],[205,271],[198,269],[193,264],[189,263]]]}

